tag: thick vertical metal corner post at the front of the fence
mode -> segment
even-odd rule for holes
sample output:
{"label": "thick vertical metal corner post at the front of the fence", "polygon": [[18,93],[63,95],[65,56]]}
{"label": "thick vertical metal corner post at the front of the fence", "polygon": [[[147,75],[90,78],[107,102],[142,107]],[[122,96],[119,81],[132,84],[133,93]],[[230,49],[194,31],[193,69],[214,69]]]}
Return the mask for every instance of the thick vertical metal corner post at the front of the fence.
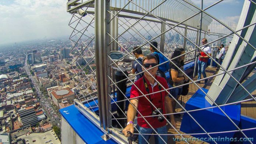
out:
{"label": "thick vertical metal corner post at the front of the fence", "polygon": [[95,53],[96,53],[96,79],[97,79],[97,94],[99,101],[99,116],[100,116],[100,127],[102,128],[105,135],[103,138],[108,139],[107,128],[109,127],[109,97],[110,93],[109,79],[107,74],[110,74],[110,68],[106,65],[110,64],[110,60],[107,57],[110,51],[109,41],[110,38],[107,33],[110,33],[110,14],[108,1],[95,1]]}

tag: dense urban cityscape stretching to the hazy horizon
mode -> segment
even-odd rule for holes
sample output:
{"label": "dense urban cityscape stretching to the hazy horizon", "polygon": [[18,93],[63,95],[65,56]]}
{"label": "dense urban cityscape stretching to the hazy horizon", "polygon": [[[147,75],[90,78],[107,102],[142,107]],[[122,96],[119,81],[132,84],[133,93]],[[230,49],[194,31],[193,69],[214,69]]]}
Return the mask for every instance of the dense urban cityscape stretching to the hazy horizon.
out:
{"label": "dense urban cityscape stretching to the hazy horizon", "polygon": [[[123,37],[118,39],[123,46],[118,48],[120,51],[130,52],[134,46],[142,44],[138,43],[139,37]],[[146,38],[151,40],[152,36]],[[159,41],[158,38],[155,40]],[[172,53],[174,47],[183,47],[178,41],[183,41],[179,35],[170,35],[165,52]],[[61,143],[58,109],[72,105],[75,98],[83,100],[86,94],[96,92],[96,76],[90,76],[96,69],[95,58],[89,53],[94,51],[94,43],[87,45],[87,48],[78,46],[72,50],[73,43],[63,38],[1,46],[0,133],[10,133],[11,143]],[[186,47],[187,50],[193,49],[189,45]],[[149,46],[142,49],[145,55],[149,54]],[[79,57],[81,53],[82,58]],[[78,85],[79,81],[85,80],[86,83]],[[49,132],[50,129],[53,130]]]}

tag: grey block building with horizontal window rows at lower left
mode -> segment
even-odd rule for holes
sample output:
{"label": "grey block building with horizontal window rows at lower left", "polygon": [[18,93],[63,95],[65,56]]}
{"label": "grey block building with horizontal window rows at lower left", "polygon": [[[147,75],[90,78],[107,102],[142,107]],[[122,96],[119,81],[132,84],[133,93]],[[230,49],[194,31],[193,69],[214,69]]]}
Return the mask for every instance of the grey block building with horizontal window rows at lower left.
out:
{"label": "grey block building with horizontal window rows at lower left", "polygon": [[18,113],[23,126],[35,125],[38,122],[38,118],[33,106],[21,108],[18,110]]}

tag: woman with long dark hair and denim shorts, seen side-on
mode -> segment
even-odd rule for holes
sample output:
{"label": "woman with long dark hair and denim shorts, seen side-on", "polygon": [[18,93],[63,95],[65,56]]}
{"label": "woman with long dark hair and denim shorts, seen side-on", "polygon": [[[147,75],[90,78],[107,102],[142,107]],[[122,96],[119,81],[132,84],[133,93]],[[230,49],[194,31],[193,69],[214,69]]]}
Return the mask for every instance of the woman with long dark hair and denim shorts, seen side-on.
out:
{"label": "woman with long dark hair and denim shorts, seen side-on", "polygon": [[[170,90],[171,95],[178,100],[179,96],[181,95],[182,92],[182,84],[184,84],[184,82],[186,80],[188,80],[188,77],[184,75],[184,58],[185,55],[182,55],[185,53],[184,48],[176,48],[173,52],[173,55],[171,57],[171,59],[175,58],[173,60],[173,63],[176,65],[174,65],[173,63],[170,63],[170,80],[168,82],[168,86],[169,88],[171,87],[175,87],[174,89]],[[180,57],[178,57],[179,55],[182,55]],[[183,71],[180,71],[177,66]],[[175,106],[176,106],[176,101],[171,97],[171,102],[173,105],[173,112],[175,112]],[[174,116],[179,117],[181,116],[180,114],[174,114]]]}

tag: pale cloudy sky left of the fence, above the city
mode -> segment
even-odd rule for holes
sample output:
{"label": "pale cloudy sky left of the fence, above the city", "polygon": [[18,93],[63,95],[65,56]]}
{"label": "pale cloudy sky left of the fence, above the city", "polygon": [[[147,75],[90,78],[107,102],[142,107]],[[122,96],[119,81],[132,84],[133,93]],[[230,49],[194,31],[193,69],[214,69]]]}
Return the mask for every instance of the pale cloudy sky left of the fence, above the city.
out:
{"label": "pale cloudy sky left of the fence, above the city", "polygon": [[0,4],[0,44],[70,35],[66,0],[15,0]]}

